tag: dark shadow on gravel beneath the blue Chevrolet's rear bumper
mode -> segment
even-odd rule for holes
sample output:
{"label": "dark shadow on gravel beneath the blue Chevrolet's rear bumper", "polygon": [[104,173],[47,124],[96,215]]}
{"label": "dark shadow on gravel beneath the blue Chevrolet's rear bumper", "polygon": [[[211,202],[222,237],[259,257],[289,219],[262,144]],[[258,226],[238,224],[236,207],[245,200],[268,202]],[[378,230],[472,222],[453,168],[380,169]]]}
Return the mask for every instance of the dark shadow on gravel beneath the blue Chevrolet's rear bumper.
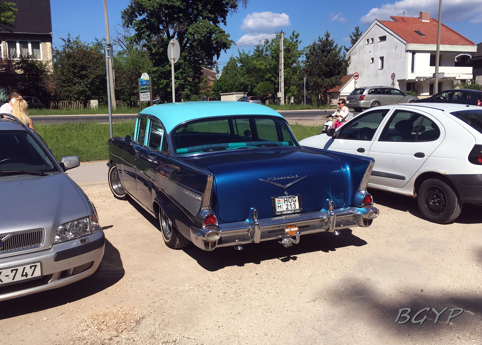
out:
{"label": "dark shadow on gravel beneath the blue Chevrolet's rear bumper", "polygon": [[243,266],[245,264],[260,264],[262,261],[278,259],[282,262],[296,260],[300,254],[308,252],[336,251],[337,248],[348,246],[360,247],[367,242],[352,234],[351,229],[340,230],[340,235],[335,236],[330,232],[321,232],[301,236],[300,242],[291,247],[284,248],[278,240],[263,241],[244,245],[244,250],[236,251],[234,247],[216,248],[206,252],[191,244],[183,251],[195,259],[198,264],[208,270],[217,271],[227,266]]}

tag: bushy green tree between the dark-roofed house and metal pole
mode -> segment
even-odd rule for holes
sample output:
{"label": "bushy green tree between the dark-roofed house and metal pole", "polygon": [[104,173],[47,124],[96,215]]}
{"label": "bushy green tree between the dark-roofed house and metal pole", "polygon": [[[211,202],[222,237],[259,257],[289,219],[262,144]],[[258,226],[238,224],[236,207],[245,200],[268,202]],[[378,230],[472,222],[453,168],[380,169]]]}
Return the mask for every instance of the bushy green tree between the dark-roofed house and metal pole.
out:
{"label": "bushy green tree between the dark-roofed house and metal pole", "polygon": [[92,44],[82,42],[79,36],[62,39],[59,49],[54,49],[54,73],[51,77],[56,99],[83,101],[98,99],[107,103],[107,78],[102,41]]}

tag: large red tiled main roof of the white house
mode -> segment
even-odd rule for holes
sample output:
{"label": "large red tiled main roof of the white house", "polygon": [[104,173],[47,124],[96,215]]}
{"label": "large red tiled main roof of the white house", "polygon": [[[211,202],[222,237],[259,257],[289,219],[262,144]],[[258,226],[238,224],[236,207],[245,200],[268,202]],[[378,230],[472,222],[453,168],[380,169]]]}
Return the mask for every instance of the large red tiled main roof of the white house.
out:
{"label": "large red tiled main roof of the white house", "polygon": [[[437,44],[438,21],[430,18],[429,22],[422,22],[417,17],[390,17],[390,20],[379,20],[381,24],[388,27],[397,35],[406,40],[407,43],[415,44]],[[425,36],[420,36],[415,32],[419,30]],[[474,42],[460,35],[450,27],[441,23],[440,44],[447,45],[475,45]]]}

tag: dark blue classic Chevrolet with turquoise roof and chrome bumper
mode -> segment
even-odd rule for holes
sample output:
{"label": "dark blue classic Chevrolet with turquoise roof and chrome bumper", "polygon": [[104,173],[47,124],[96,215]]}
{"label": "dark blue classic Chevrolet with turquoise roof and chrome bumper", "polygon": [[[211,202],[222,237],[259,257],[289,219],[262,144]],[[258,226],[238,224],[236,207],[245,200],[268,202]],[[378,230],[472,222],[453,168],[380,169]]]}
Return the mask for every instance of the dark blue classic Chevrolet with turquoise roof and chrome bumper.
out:
{"label": "dark blue classic Chevrolet with turquoise roof and chrome bumper", "polygon": [[159,219],[170,248],[289,247],[300,235],[370,226],[379,213],[366,191],[373,159],[301,147],[267,106],[150,106],[134,138],[107,145],[112,193]]}

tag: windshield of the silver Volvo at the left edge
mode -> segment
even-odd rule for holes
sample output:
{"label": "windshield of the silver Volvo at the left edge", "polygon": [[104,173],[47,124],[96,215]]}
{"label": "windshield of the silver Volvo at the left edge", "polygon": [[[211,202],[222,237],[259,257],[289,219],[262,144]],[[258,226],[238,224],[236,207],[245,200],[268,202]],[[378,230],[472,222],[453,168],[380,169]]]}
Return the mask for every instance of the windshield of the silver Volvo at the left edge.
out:
{"label": "windshield of the silver Volvo at the left edge", "polygon": [[0,173],[57,171],[27,131],[0,131],[0,147]]}

